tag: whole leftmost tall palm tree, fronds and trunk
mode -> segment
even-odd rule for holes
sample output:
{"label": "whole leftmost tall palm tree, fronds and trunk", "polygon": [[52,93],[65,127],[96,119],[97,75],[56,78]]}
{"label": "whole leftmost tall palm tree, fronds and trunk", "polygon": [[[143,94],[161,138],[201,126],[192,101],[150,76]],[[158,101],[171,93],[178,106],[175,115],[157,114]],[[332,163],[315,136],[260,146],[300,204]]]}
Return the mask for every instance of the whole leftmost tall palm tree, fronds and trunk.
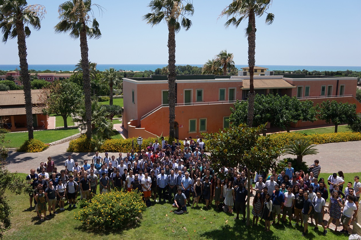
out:
{"label": "whole leftmost tall palm tree, fronds and trunk", "polygon": [[20,75],[25,95],[26,127],[29,140],[34,138],[32,129],[32,104],[30,74],[27,64],[25,38],[30,36],[29,25],[40,30],[40,21],[46,13],[43,5],[29,5],[25,0],[0,0],[0,28],[3,32],[3,42],[8,39],[18,39],[18,54]]}

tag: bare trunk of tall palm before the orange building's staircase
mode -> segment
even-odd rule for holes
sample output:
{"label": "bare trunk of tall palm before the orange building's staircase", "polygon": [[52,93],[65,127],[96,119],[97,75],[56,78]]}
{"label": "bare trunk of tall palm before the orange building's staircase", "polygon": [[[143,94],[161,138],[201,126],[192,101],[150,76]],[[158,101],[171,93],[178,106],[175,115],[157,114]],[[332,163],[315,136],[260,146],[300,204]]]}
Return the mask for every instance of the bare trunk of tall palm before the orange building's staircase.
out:
{"label": "bare trunk of tall palm before the orange building's staircase", "polygon": [[174,119],[175,119],[175,28],[168,25],[168,102],[169,102],[169,141],[174,139]]}

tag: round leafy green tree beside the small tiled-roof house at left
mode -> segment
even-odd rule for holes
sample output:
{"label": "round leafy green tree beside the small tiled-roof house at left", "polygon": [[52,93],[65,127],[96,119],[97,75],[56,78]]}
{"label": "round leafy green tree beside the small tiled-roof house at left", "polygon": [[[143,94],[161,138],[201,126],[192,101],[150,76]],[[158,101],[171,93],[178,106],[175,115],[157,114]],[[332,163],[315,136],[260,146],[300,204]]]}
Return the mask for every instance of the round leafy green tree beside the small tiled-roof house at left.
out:
{"label": "round leafy green tree beside the small tiled-roof house at left", "polygon": [[44,89],[42,95],[46,103],[43,113],[61,116],[65,128],[68,127],[67,118],[74,114],[83,102],[81,87],[69,80],[53,82],[48,89]]}

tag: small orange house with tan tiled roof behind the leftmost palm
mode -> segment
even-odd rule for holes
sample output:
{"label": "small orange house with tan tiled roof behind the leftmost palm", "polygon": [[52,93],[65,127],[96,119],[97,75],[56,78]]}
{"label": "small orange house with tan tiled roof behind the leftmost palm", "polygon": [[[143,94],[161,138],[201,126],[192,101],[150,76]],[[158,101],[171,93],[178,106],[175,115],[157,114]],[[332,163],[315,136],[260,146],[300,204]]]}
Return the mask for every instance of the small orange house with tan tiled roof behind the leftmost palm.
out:
{"label": "small orange house with tan tiled roof behind the leftmost palm", "polygon": [[[43,115],[40,105],[42,90],[31,90],[32,119],[35,130],[48,128],[48,115]],[[7,119],[6,126],[12,132],[26,131],[25,96],[23,90],[0,91],[0,117]]]}

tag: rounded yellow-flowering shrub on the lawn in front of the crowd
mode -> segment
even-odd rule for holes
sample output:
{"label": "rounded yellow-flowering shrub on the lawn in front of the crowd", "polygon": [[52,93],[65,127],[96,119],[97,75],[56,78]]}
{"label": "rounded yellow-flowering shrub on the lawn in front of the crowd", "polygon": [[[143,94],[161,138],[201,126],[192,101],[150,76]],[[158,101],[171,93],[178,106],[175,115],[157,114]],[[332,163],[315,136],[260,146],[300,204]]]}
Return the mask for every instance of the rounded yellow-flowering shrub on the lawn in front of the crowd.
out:
{"label": "rounded yellow-flowering shrub on the lawn in front of the crowd", "polygon": [[92,203],[74,213],[74,217],[92,228],[119,229],[132,223],[145,208],[138,191],[112,191],[93,197]]}

